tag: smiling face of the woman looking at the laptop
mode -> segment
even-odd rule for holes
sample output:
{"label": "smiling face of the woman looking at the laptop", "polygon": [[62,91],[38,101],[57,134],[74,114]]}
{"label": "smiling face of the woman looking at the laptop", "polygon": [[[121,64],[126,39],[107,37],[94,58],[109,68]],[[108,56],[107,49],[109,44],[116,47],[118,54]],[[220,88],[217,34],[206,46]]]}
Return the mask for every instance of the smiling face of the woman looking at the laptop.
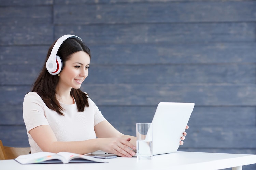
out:
{"label": "smiling face of the woman looking at the laptop", "polygon": [[88,76],[89,66],[90,56],[86,52],[79,51],[72,54],[60,72],[58,86],[61,88],[80,88],[82,82]]}

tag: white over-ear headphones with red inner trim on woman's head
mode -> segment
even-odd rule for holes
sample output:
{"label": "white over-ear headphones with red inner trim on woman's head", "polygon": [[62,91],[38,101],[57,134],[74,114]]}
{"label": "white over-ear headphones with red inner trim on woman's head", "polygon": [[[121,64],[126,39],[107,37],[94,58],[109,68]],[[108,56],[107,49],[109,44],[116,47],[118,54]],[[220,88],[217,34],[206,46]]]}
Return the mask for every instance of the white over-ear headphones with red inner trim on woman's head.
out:
{"label": "white over-ear headphones with red inner trim on woman's head", "polygon": [[[61,58],[57,55],[57,52],[59,50],[59,47],[61,46],[61,44],[68,38],[79,38],[75,35],[71,35],[71,34],[67,34],[67,35],[63,35],[62,37],[60,37],[56,43],[53,46],[53,49],[51,51],[51,54],[46,62],[46,69],[48,70],[48,72],[52,75],[57,75],[60,73],[60,71],[62,70],[63,67],[63,63],[61,61]],[[82,39],[79,38],[81,41]]]}

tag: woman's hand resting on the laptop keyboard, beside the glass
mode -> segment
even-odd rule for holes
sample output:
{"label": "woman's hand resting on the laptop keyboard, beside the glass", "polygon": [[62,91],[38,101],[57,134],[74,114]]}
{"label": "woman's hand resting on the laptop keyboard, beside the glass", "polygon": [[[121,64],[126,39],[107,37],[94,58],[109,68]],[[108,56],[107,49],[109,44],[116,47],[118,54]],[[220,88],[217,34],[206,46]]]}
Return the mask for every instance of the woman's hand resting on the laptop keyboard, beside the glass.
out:
{"label": "woman's hand resting on the laptop keyboard, beside the glass", "polygon": [[136,149],[129,141],[131,138],[122,139],[118,137],[114,138],[100,138],[99,146],[100,150],[108,153],[113,153],[122,157],[132,157],[135,152],[132,149]]}

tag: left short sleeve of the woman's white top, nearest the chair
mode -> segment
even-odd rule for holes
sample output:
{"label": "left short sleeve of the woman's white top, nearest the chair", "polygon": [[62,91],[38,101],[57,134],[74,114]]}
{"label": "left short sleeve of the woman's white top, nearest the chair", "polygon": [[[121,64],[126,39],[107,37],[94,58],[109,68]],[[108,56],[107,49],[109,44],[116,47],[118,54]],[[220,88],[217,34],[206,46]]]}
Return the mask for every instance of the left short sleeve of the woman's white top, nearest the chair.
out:
{"label": "left short sleeve of the woman's white top, nearest the chair", "polygon": [[23,119],[27,132],[40,125],[49,125],[44,114],[44,102],[35,92],[29,92],[23,101]]}

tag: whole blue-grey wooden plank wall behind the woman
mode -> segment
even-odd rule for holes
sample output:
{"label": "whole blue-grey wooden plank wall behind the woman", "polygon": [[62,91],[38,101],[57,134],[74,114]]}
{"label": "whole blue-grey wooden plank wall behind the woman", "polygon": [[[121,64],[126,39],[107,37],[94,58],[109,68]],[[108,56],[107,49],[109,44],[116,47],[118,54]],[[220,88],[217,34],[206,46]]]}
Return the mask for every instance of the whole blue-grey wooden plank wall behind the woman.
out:
{"label": "whole blue-grey wooden plank wall behind the woman", "polygon": [[23,98],[64,34],[90,47],[81,89],[121,132],[194,102],[180,151],[256,154],[255,0],[0,0],[5,145],[28,146]]}

